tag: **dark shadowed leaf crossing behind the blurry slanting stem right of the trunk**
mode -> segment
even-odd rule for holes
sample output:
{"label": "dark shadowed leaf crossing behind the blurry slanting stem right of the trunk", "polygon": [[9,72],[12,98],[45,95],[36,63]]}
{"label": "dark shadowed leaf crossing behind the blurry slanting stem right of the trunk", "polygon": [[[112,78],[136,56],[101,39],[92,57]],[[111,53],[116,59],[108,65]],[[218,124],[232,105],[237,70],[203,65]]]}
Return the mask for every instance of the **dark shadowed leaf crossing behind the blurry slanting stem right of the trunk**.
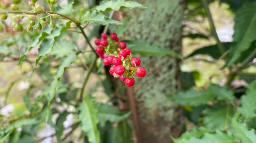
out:
{"label": "dark shadowed leaf crossing behind the blurry slanting stem right of the trunk", "polygon": [[[227,42],[227,43],[222,43],[225,50],[229,50],[232,42]],[[211,56],[214,59],[219,59],[221,57],[221,53],[218,51],[218,45],[210,45],[206,47],[199,48],[198,50],[195,50],[193,53],[191,53],[189,56],[186,58],[189,58],[191,56],[195,56],[198,54],[206,54]]]}

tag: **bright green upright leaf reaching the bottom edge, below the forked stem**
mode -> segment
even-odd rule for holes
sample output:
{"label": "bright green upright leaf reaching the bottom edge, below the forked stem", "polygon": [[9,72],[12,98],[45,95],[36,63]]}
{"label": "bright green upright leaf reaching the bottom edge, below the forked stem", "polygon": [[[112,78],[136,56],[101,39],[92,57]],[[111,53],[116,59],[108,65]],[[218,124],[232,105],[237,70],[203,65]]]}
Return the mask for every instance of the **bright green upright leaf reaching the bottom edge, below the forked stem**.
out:
{"label": "bright green upright leaf reaching the bottom edge, below the forked stem", "polygon": [[81,128],[86,133],[90,143],[99,143],[100,134],[97,128],[99,123],[98,111],[94,105],[94,98],[87,96],[85,101],[79,105],[79,121]]}

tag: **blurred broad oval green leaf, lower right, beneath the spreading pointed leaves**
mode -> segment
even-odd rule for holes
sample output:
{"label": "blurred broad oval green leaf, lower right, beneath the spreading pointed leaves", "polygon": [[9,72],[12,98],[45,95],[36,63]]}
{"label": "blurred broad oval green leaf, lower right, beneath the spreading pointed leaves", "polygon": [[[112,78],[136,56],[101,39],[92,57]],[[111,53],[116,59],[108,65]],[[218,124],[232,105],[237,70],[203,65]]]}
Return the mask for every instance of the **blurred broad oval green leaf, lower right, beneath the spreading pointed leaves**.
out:
{"label": "blurred broad oval green leaf, lower right, beneath the spreading pointed leaves", "polygon": [[216,104],[206,109],[203,123],[208,129],[224,129],[231,126],[233,115],[234,109],[232,105]]}

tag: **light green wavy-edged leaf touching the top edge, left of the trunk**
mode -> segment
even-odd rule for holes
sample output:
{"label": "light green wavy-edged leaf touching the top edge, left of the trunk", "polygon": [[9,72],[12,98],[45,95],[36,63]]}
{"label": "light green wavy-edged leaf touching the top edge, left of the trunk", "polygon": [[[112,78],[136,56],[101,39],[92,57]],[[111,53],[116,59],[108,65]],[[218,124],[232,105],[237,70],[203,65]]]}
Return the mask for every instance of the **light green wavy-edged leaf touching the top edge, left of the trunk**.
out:
{"label": "light green wavy-edged leaf touching the top edge, left of the trunk", "polygon": [[146,6],[141,5],[140,3],[136,3],[133,1],[125,1],[125,0],[104,0],[100,3],[99,6],[96,6],[95,9],[102,13],[106,13],[108,11],[118,11],[123,8],[147,8]]}

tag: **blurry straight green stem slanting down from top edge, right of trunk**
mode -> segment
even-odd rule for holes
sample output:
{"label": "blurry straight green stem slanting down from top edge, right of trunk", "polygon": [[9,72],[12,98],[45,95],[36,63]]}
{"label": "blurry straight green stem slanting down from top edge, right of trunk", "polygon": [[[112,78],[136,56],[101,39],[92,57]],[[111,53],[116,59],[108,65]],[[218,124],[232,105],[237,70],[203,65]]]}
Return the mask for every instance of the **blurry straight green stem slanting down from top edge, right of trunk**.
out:
{"label": "blurry straight green stem slanting down from top edge, right of trunk", "polygon": [[208,19],[209,19],[209,22],[210,22],[210,26],[211,26],[211,29],[212,29],[212,34],[218,42],[217,43],[218,49],[219,49],[221,55],[223,55],[225,53],[225,48],[222,45],[220,39],[218,38],[218,34],[216,32],[216,28],[215,28],[215,25],[214,25],[213,20],[212,20],[212,15],[211,15],[211,12],[210,12],[209,7],[208,7],[208,0],[202,0],[202,3],[203,3],[204,9],[207,13],[207,16],[208,16]]}

